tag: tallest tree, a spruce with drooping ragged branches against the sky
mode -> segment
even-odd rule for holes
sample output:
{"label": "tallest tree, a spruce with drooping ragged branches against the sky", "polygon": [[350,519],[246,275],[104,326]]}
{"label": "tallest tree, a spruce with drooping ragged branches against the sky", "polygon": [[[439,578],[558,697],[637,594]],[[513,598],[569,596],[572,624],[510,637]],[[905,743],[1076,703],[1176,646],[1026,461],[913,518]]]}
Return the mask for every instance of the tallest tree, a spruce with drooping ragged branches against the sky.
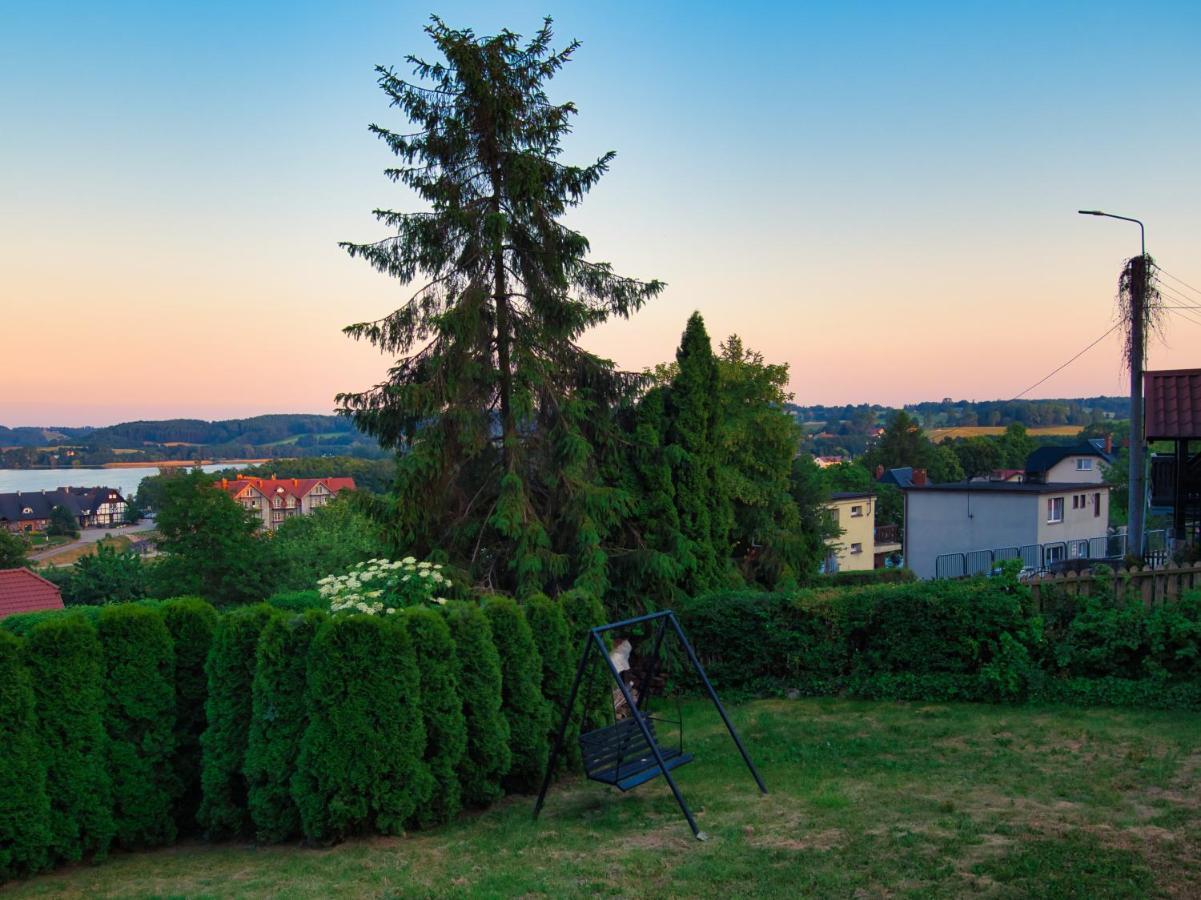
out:
{"label": "tallest tree, a spruce with drooping ragged branches against the sky", "polygon": [[603,589],[600,544],[628,502],[598,477],[594,431],[632,379],[576,340],[663,286],[588,261],[587,239],[561,221],[614,157],[558,160],[576,109],[550,102],[545,85],[579,44],[554,50],[550,19],[528,42],[438,18],[426,34],[442,60],[408,58],[422,84],[377,68],[416,131],[371,131],[401,161],[387,175],[430,208],[377,210],[395,233],[343,245],[424,284],[388,316],[346,329],[399,359],[384,382],[340,394],[340,409],[407,451],[395,505],[376,511],[398,549],[446,552],[521,594]]}

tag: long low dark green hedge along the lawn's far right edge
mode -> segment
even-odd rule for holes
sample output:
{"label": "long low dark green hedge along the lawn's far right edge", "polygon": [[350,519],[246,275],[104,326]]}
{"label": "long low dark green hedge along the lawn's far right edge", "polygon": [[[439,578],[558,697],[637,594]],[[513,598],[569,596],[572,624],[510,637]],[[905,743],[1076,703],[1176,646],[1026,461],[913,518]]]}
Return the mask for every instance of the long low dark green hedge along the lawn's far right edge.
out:
{"label": "long low dark green hedge along the lawn's far right edge", "polygon": [[1201,709],[1201,594],[1153,609],[1094,597],[1041,615],[1000,577],[727,591],[677,614],[719,689]]}

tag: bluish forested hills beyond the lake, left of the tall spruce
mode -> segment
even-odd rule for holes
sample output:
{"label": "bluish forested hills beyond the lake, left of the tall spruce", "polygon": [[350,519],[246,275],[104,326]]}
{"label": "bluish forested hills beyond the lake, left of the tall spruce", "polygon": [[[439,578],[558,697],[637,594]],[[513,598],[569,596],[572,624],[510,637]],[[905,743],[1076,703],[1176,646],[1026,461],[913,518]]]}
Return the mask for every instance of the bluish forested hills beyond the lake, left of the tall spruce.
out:
{"label": "bluish forested hills beyond the lake, left of the tall spruce", "polygon": [[374,437],[340,416],[277,413],[216,422],[123,422],[104,428],[0,425],[0,467],[335,454],[386,455]]}

